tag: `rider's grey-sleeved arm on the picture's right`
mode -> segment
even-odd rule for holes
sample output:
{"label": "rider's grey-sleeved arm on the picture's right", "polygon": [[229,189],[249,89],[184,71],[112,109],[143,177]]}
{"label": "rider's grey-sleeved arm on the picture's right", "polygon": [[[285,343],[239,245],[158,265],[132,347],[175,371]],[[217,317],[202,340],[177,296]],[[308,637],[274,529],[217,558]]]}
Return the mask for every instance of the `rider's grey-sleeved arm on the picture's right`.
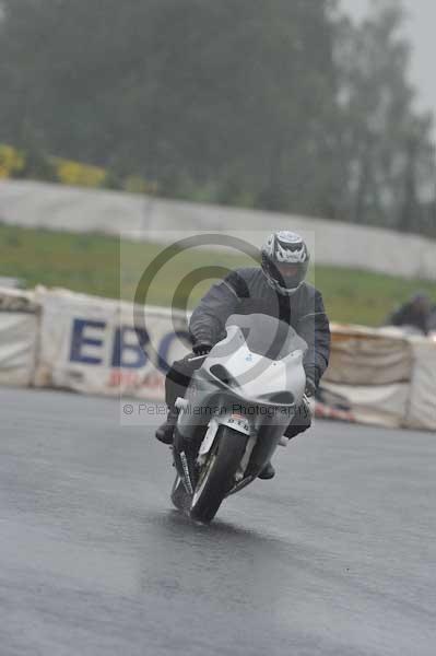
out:
{"label": "rider's grey-sleeved arm on the picture's right", "polygon": [[297,332],[308,345],[304,361],[306,376],[317,388],[329,364],[331,341],[329,318],[318,290],[315,290],[310,307],[299,317]]}

